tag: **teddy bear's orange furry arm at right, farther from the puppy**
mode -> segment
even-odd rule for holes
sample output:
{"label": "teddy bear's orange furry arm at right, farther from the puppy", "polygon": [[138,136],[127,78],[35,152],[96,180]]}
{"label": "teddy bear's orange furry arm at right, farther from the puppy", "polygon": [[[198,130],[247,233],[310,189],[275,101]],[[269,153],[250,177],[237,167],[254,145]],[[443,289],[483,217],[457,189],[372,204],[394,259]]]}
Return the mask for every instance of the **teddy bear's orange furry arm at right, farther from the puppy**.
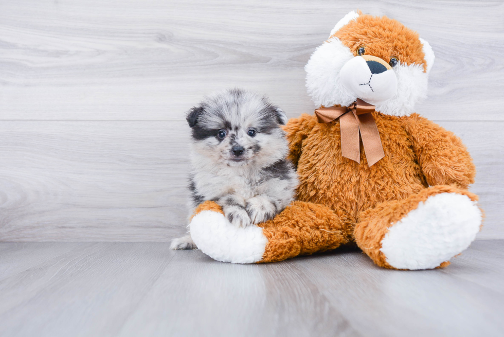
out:
{"label": "teddy bear's orange furry arm at right, farther from the puppy", "polygon": [[430,186],[456,184],[465,189],[474,183],[473,159],[453,132],[418,114],[407,118],[406,128]]}

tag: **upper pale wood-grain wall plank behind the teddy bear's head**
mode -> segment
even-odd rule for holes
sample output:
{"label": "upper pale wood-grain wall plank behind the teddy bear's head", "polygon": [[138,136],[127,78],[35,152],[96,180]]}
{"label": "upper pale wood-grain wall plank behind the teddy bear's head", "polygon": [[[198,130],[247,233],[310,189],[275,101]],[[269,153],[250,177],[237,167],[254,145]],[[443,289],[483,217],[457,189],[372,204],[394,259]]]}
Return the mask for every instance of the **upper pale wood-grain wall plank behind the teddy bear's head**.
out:
{"label": "upper pale wood-grain wall plank behind the teddy bear's head", "polygon": [[311,112],[303,66],[356,7],[433,46],[418,112],[504,120],[502,1],[423,0],[3,2],[0,119],[181,120],[230,86],[267,93],[289,116]]}

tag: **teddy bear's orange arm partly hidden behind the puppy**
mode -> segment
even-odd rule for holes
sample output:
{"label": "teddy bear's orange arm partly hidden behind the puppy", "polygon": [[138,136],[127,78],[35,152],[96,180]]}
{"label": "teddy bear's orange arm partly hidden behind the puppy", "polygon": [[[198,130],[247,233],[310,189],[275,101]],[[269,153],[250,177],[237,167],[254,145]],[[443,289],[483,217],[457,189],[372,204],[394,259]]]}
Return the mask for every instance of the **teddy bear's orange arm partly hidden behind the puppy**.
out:
{"label": "teddy bear's orange arm partly hidden behind the puppy", "polygon": [[302,114],[298,118],[291,118],[283,130],[287,133],[287,140],[289,141],[289,156],[288,158],[297,167],[299,156],[301,155],[301,147],[303,139],[307,137],[308,133],[312,130],[316,121],[313,116]]}

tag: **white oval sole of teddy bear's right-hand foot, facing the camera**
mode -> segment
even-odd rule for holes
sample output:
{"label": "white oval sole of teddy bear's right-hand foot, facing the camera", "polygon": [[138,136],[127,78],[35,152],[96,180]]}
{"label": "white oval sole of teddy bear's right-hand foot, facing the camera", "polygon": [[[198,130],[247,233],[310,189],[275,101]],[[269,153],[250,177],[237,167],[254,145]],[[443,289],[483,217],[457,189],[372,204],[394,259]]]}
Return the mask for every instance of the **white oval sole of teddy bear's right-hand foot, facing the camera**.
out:
{"label": "white oval sole of teddy bear's right-hand foot, facing the camera", "polygon": [[380,251],[397,269],[432,269],[465,250],[482,222],[475,201],[457,193],[439,193],[389,227]]}

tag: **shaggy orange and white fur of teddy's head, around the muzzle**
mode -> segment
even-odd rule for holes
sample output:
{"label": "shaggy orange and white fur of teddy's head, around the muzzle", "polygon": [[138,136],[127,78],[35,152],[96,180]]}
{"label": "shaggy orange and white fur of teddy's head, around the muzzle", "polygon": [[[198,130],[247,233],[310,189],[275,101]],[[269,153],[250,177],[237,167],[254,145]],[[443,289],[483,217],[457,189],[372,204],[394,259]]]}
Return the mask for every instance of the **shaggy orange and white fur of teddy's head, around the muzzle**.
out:
{"label": "shaggy orange and white fur of teddy's head, around the muzzle", "polygon": [[[385,16],[350,12],[335,28],[338,29],[331,32],[331,37],[315,50],[305,66],[308,94],[316,108],[348,106],[359,97],[384,114],[405,116],[414,112],[415,103],[427,96],[427,75],[434,64],[428,42]],[[357,56],[359,47],[365,48],[365,55],[382,58],[387,63],[391,58],[398,59],[398,65],[392,69],[397,78],[397,92],[391,99],[373,101],[349,91],[342,83],[341,70]],[[368,75],[363,76],[367,80]]]}

